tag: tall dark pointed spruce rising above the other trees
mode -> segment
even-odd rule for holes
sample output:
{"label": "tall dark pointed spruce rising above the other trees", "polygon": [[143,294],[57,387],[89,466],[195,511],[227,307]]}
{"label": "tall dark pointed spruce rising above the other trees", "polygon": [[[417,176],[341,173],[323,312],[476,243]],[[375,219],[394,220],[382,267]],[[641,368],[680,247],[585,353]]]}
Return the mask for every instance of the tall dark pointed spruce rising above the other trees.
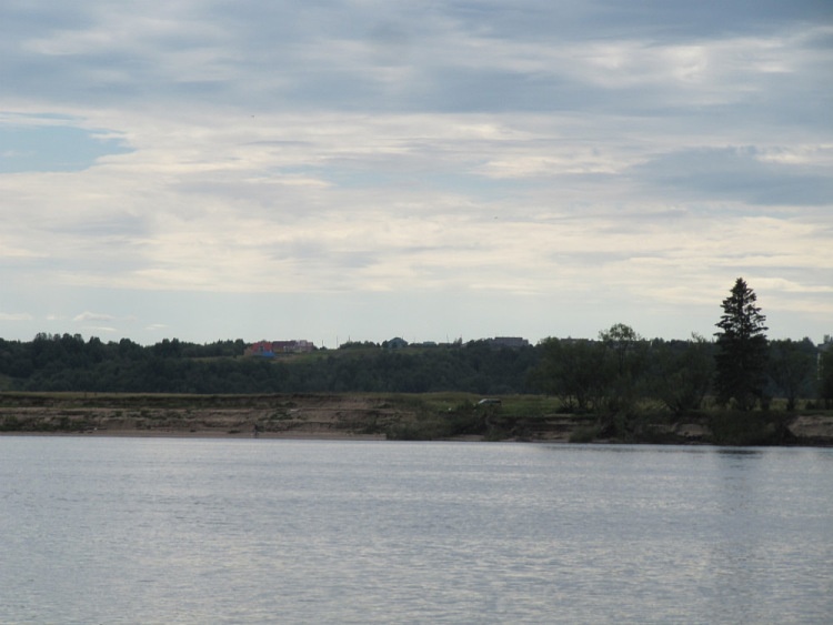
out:
{"label": "tall dark pointed spruce rising above the other trees", "polygon": [[766,317],[755,305],[757,295],[739,278],[729,298],[723,300],[723,315],[717,322],[715,354],[715,392],[717,403],[734,400],[740,410],[752,410],[763,395],[766,383],[769,345]]}

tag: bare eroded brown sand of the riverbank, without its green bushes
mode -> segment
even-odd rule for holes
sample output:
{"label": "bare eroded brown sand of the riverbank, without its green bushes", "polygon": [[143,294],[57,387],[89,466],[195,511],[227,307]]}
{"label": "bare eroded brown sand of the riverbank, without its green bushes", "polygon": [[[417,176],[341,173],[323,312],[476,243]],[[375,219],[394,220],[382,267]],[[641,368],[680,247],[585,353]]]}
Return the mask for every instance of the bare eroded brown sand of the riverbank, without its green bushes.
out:
{"label": "bare eroded brown sand of the riverbank, without its green bushes", "polygon": [[[456,417],[459,419],[459,414]],[[593,417],[534,414],[506,417],[496,411],[488,426],[448,436],[430,426],[452,413],[426,412],[413,397],[380,395],[86,395],[2,394],[1,435],[80,435],[141,437],[333,438],[382,441],[451,438],[458,441],[604,442]],[[468,417],[466,417],[468,419]],[[429,427],[425,427],[425,425]],[[791,445],[832,446],[833,416],[785,416],[784,441]],[[496,429],[495,429],[496,427]],[[642,425],[641,442],[707,444],[714,440],[710,417],[681,417]]]}

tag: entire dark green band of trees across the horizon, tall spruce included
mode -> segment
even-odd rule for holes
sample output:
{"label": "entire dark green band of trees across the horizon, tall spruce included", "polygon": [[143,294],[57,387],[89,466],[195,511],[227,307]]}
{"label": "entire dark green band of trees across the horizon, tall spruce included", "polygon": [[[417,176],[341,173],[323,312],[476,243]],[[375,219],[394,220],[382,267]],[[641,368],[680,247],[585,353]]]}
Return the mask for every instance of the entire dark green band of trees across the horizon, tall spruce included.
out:
{"label": "entire dark green band of trees across the horizon, tall spruce included", "polygon": [[142,346],[79,334],[0,339],[0,391],[129,393],[546,393],[565,411],[626,414],[658,405],[696,411],[706,399],[749,411],[799,400],[833,404],[833,345],[769,341],[754,292],[739,279],[722,303],[715,339],[648,340],[625,324],[596,339],[506,347],[488,341],[383,349],[349,344],[288,359],[243,357],[242,340]]}

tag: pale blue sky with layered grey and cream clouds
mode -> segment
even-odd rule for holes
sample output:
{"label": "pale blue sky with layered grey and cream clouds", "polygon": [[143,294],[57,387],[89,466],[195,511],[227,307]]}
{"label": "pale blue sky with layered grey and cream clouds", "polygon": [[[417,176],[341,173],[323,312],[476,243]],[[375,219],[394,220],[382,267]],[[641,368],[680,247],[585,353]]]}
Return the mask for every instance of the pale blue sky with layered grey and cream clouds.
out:
{"label": "pale blue sky with layered grey and cream clouds", "polygon": [[833,333],[829,0],[4,0],[0,337]]}

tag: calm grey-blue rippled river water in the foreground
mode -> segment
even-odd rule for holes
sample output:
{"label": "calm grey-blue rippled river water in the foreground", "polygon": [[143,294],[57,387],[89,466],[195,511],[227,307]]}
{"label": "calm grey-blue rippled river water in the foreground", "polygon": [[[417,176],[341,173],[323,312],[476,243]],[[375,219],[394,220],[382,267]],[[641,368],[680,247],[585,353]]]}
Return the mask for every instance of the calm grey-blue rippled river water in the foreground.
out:
{"label": "calm grey-blue rippled river water in the foreground", "polygon": [[0,437],[0,623],[831,623],[833,450]]}

